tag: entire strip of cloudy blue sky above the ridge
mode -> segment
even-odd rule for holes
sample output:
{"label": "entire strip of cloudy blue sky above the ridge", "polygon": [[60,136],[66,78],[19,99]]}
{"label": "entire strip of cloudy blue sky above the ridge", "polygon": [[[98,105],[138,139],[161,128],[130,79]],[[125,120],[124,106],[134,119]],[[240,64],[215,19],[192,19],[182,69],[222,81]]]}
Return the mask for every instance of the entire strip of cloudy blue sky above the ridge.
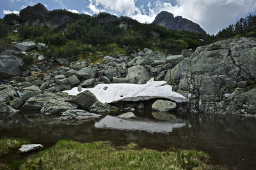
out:
{"label": "entire strip of cloudy blue sky above the ridge", "polygon": [[256,0],[0,0],[0,18],[37,3],[48,10],[66,9],[89,15],[106,11],[142,23],[153,22],[164,10],[196,22],[209,34],[216,34],[241,17],[256,14]]}

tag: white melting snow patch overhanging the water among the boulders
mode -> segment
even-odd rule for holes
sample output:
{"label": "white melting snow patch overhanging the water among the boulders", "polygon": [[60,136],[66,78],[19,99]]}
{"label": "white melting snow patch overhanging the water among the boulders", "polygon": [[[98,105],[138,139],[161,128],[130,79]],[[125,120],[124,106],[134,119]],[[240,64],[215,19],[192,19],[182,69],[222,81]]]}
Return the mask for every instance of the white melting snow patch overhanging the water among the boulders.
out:
{"label": "white melting snow patch overhanging the water among the boulders", "polygon": [[[144,101],[154,98],[166,98],[176,102],[185,102],[186,98],[172,91],[170,85],[165,85],[166,81],[154,81],[150,79],[144,85],[129,83],[99,84],[90,90],[102,103],[115,103],[117,101]],[[80,92],[77,87],[64,91],[69,95],[76,96]]]}

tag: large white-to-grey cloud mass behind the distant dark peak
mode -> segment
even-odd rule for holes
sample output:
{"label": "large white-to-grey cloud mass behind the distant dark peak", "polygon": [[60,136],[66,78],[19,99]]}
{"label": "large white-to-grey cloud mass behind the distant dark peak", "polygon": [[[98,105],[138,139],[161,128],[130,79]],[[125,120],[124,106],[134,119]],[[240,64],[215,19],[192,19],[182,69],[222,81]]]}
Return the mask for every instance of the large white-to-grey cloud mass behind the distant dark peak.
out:
{"label": "large white-to-grey cloud mass behind the distant dark peak", "polygon": [[93,13],[108,11],[148,23],[153,22],[161,11],[169,11],[175,16],[181,15],[196,22],[210,34],[215,34],[240,17],[246,17],[248,13],[256,11],[255,0],[177,0],[175,5],[157,0],[140,7],[136,6],[136,0],[88,1],[88,8]]}

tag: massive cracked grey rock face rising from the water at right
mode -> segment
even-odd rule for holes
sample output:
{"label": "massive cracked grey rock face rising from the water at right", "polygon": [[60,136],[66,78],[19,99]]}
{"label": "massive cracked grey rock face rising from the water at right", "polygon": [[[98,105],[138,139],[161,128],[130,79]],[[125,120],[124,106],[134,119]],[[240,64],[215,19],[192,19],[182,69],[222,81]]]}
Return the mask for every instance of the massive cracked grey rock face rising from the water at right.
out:
{"label": "massive cracked grey rock face rising from the water at right", "polygon": [[[256,79],[256,39],[233,38],[200,46],[186,60],[168,70],[164,80],[186,95],[190,111],[256,113],[252,107]],[[235,89],[241,94],[228,97]],[[248,92],[252,94],[248,94]]]}

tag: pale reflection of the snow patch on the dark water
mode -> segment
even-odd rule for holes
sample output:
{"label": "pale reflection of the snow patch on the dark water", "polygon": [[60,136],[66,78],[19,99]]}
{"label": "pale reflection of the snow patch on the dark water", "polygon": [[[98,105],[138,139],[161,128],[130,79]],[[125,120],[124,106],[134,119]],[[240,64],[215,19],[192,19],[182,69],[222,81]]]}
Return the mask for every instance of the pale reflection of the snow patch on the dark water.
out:
{"label": "pale reflection of the snow patch on the dark water", "polygon": [[173,128],[180,128],[185,125],[185,123],[140,122],[136,120],[125,120],[122,118],[111,117],[108,115],[102,118],[99,122],[96,122],[94,126],[100,129],[168,133],[172,132]]}

